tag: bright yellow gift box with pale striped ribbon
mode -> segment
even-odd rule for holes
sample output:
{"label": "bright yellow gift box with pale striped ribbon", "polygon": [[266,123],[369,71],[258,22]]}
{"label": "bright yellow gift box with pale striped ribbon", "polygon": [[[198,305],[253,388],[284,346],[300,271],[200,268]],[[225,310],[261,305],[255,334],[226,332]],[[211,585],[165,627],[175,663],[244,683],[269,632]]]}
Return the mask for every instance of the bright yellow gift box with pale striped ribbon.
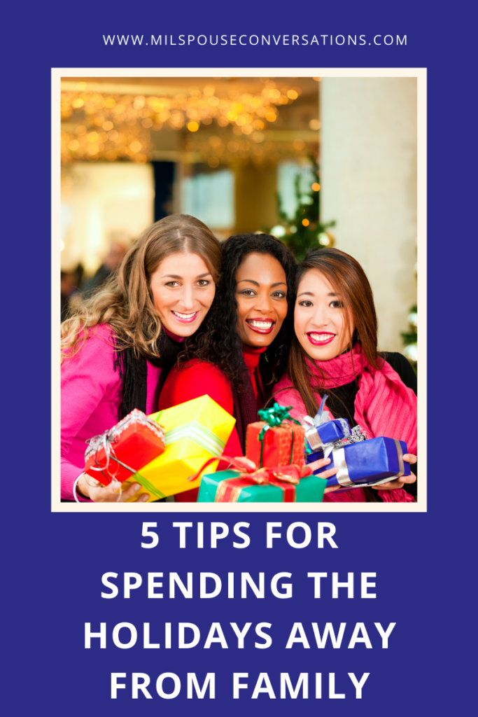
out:
{"label": "bright yellow gift box with pale striped ribbon", "polygon": [[[209,458],[221,455],[236,419],[209,396],[158,411],[150,415],[164,427],[165,451],[135,473],[128,483],[140,483],[136,495],[149,493],[149,501],[199,488],[201,476],[188,480]],[[206,473],[214,473],[218,462],[209,465]],[[123,490],[127,487],[123,484]],[[129,502],[130,502],[129,501]]]}

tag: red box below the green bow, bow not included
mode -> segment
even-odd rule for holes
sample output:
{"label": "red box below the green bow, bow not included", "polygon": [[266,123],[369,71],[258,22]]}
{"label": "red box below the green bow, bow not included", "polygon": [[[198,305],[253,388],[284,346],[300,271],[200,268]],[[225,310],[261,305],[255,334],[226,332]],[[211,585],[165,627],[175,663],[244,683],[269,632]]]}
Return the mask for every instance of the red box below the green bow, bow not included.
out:
{"label": "red box below the green bow, bow not included", "polygon": [[[280,426],[269,427],[261,441],[259,434],[264,426],[267,426],[264,421],[249,423],[246,437],[247,458],[253,460],[260,468],[291,463],[304,465],[305,430],[302,426],[283,422]],[[263,449],[261,449],[262,443]]]}

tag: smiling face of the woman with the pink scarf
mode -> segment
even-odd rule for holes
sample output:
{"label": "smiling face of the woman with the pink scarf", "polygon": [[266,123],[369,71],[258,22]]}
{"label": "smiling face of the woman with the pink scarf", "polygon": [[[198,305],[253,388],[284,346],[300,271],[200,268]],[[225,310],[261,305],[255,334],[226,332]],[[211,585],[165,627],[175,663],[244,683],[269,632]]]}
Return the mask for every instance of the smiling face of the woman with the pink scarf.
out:
{"label": "smiling face of the woman with the pink scarf", "polygon": [[348,348],[353,320],[345,318],[343,303],[317,269],[302,277],[294,311],[295,334],[311,359],[328,361]]}

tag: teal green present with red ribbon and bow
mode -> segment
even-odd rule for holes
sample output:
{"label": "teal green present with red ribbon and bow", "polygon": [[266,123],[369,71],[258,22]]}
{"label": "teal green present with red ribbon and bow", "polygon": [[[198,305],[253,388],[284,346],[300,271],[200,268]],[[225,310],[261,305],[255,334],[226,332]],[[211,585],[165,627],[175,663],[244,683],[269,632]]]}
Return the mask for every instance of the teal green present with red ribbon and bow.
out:
{"label": "teal green present with red ribbon and bow", "polygon": [[198,503],[320,503],[327,480],[302,465],[203,475]]}

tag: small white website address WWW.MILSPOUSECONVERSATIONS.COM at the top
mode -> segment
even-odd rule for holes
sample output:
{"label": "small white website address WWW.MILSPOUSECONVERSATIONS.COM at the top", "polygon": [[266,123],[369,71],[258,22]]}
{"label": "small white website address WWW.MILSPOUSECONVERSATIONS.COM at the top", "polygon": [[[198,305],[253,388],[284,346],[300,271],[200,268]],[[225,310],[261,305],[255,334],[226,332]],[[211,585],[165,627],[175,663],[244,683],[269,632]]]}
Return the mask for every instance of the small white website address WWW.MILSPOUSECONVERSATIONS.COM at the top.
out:
{"label": "small white website address WWW.MILSPOUSECONVERSATIONS.COM at the top", "polygon": [[103,35],[106,45],[406,45],[406,35]]}

